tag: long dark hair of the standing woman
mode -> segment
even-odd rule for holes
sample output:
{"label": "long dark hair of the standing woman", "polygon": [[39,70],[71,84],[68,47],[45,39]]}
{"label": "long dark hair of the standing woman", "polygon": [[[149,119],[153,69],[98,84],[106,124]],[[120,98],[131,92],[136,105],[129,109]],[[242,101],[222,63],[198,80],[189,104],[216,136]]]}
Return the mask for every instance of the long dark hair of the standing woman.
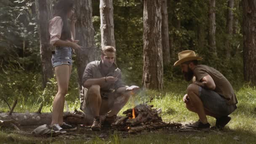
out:
{"label": "long dark hair of the standing woman", "polygon": [[63,21],[63,27],[60,38],[61,40],[71,39],[70,25],[67,19],[67,13],[71,11],[73,6],[74,0],[58,0],[56,5],[54,6],[55,14],[53,16],[60,16]]}

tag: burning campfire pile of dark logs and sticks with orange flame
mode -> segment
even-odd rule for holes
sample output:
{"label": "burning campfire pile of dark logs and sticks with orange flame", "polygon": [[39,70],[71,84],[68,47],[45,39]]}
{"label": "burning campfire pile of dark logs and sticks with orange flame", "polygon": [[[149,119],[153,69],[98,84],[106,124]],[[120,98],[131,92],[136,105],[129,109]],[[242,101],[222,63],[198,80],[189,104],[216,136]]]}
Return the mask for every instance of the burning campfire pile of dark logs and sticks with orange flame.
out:
{"label": "burning campfire pile of dark logs and sticks with orange flame", "polygon": [[180,128],[180,123],[165,123],[159,114],[161,109],[152,109],[153,105],[139,104],[133,109],[123,112],[125,117],[121,117],[112,127],[118,131],[128,131],[137,133],[141,131],[154,131],[160,128]]}

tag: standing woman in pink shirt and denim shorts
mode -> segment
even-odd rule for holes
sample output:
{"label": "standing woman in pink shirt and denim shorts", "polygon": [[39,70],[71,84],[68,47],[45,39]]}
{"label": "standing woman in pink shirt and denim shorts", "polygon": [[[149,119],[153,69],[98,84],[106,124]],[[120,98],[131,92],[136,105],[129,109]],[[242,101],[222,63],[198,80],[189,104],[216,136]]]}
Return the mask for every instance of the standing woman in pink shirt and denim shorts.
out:
{"label": "standing woman in pink shirt and denim shorts", "polygon": [[[72,70],[72,51],[81,47],[75,40],[75,8],[73,0],[58,0],[55,14],[50,21],[50,43],[55,46],[52,51],[52,65],[56,73],[58,92],[53,100],[51,128],[54,131],[74,131],[77,128],[63,122],[65,95],[68,92],[69,78]],[[70,21],[69,21],[70,20]]]}

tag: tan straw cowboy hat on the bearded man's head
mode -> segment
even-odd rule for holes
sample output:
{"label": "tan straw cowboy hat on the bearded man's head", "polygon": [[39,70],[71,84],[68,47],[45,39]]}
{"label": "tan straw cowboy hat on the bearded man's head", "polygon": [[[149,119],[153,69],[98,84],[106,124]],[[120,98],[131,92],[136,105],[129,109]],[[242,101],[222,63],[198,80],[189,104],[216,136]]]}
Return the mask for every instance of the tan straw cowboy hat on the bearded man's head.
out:
{"label": "tan straw cowboy hat on the bearded man's head", "polygon": [[176,61],[174,63],[174,66],[178,66],[181,63],[184,63],[186,61],[194,61],[194,60],[202,60],[203,58],[198,57],[195,55],[195,51],[181,51],[178,53],[179,61]]}

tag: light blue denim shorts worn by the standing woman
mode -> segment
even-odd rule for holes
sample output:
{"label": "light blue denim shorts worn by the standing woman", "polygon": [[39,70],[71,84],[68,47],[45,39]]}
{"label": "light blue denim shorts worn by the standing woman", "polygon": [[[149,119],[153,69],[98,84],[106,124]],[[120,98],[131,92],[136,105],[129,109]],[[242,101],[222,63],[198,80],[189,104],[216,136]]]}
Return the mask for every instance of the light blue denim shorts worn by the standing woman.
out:
{"label": "light blue denim shorts worn by the standing woman", "polygon": [[61,64],[72,65],[72,48],[56,47],[56,50],[51,56],[51,63],[53,67],[57,67]]}

